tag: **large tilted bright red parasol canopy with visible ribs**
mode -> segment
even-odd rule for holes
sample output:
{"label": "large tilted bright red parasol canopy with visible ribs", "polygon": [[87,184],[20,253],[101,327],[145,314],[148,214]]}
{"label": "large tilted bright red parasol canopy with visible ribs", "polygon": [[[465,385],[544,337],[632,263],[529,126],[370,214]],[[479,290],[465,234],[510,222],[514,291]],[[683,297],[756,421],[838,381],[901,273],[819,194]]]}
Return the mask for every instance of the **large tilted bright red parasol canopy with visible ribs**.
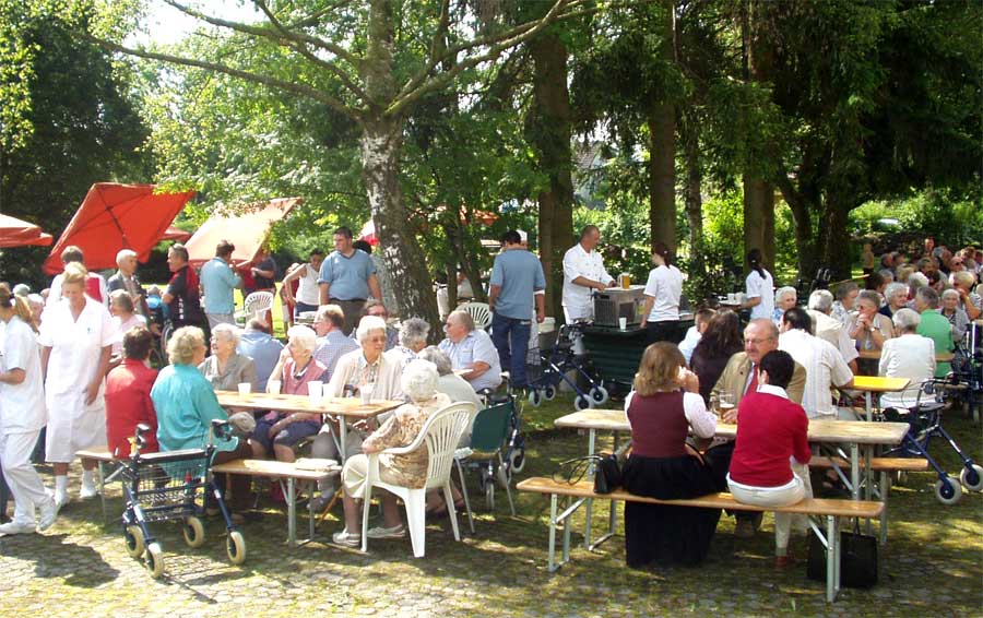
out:
{"label": "large tilted bright red parasol canopy with visible ribs", "polygon": [[97,182],[51,248],[44,270],[48,274],[61,272],[61,251],[69,245],[82,249],[90,270],[116,268],[120,249],[132,249],[137,259],[145,262],[167,226],[193,197],[194,191],[155,194],[153,185]]}

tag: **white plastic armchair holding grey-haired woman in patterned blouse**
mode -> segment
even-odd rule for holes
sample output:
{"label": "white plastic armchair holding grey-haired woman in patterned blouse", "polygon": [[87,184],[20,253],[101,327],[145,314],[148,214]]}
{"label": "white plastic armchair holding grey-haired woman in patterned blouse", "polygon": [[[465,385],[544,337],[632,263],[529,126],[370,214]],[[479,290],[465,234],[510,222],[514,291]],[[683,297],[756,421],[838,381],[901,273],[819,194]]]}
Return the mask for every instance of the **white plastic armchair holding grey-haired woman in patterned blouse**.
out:
{"label": "white plastic armchair holding grey-haired woman in patterned blouse", "polygon": [[403,500],[406,507],[406,524],[410,527],[410,540],[413,544],[413,556],[423,558],[426,534],[426,495],[430,489],[443,489],[443,499],[447,502],[447,513],[450,515],[451,527],[454,531],[454,540],[461,540],[458,530],[458,513],[454,511],[454,499],[451,494],[450,473],[454,464],[454,450],[458,441],[471,416],[475,405],[470,402],[460,402],[438,409],[427,418],[419,435],[408,447],[387,449],[382,452],[392,455],[405,455],[417,449],[427,449],[427,482],[419,489],[390,485],[379,477],[379,454],[368,455],[368,472],[365,477],[365,497],[362,511],[362,550],[368,550],[368,515],[371,502],[372,487],[386,489],[395,494]]}

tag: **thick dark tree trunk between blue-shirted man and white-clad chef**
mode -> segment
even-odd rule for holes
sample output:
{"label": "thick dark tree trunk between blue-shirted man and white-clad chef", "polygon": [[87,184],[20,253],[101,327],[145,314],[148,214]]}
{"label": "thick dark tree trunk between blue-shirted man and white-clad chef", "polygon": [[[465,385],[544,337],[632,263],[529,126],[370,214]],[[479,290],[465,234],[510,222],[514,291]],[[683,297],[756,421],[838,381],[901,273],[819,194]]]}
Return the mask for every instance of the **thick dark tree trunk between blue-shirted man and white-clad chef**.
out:
{"label": "thick dark tree trunk between blue-shirted man and white-clad chef", "polygon": [[573,246],[573,180],[570,168],[570,93],[567,90],[567,48],[553,32],[530,44],[535,103],[528,136],[540,154],[540,169],[549,190],[538,195],[540,260],[546,274],[547,313],[562,316],[564,253]]}

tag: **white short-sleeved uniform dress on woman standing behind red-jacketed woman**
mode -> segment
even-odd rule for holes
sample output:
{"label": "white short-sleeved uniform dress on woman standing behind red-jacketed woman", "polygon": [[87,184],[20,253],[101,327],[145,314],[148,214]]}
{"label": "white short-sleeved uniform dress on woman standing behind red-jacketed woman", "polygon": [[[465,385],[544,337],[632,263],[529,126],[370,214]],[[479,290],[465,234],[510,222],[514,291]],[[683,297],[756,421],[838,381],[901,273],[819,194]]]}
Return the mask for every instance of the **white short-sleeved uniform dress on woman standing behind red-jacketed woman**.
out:
{"label": "white short-sleeved uniform dress on woman standing behind red-jacketed woman", "polygon": [[45,310],[38,341],[51,348],[45,380],[49,462],[71,463],[79,450],[106,443],[105,379],[90,405],[85,391],[98,370],[103,347],[112,345],[115,336],[109,312],[91,298],[85,298],[78,321],[68,301]]}

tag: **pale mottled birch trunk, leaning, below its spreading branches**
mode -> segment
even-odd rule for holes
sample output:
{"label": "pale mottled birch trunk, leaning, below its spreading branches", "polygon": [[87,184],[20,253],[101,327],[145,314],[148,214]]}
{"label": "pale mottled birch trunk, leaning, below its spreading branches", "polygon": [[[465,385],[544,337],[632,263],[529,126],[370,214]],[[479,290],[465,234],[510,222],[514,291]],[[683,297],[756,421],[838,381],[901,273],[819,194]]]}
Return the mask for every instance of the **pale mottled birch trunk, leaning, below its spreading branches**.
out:
{"label": "pale mottled birch trunk, leaning, below its spreading branches", "polygon": [[363,123],[362,179],[402,316],[427,320],[435,326],[430,332],[436,336],[440,332],[437,297],[424,253],[407,225],[410,216],[400,190],[402,136],[400,120]]}

